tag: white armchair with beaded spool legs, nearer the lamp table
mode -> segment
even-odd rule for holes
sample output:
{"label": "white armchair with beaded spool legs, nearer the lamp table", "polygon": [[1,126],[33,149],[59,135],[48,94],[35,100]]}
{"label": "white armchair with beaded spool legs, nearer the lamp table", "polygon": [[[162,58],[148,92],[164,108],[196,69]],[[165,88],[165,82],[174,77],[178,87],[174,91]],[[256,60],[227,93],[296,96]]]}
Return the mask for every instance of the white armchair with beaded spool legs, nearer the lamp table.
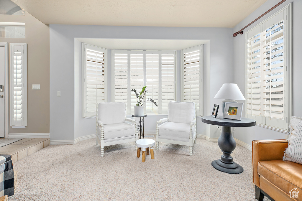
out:
{"label": "white armchair with beaded spool legs, nearer the lamp table", "polygon": [[[163,123],[165,122],[165,123]],[[159,123],[163,123],[160,126]],[[194,102],[169,102],[168,118],[156,122],[156,150],[159,142],[167,142],[190,147],[196,143],[196,108]]]}

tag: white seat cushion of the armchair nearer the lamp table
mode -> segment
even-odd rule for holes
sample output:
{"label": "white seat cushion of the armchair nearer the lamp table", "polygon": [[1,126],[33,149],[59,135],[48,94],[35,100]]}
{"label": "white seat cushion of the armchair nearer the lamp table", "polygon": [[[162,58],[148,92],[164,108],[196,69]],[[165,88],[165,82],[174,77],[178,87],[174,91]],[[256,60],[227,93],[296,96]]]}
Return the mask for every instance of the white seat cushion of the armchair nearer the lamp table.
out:
{"label": "white seat cushion of the armchair nearer the lamp table", "polygon": [[[194,125],[195,126],[195,125]],[[193,135],[195,134],[194,126],[192,126]],[[166,122],[158,126],[159,136],[171,136],[176,138],[190,138],[189,123]]]}

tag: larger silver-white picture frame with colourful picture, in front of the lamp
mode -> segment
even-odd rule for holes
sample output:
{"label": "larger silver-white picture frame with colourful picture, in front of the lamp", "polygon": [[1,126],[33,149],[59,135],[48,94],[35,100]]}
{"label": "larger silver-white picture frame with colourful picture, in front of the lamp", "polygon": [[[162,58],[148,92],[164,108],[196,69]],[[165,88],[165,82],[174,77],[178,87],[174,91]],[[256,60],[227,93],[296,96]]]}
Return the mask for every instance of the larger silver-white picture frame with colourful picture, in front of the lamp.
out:
{"label": "larger silver-white picture frame with colourful picture, in front of the lamp", "polygon": [[243,103],[226,102],[223,111],[223,118],[241,120],[242,110],[243,110]]}

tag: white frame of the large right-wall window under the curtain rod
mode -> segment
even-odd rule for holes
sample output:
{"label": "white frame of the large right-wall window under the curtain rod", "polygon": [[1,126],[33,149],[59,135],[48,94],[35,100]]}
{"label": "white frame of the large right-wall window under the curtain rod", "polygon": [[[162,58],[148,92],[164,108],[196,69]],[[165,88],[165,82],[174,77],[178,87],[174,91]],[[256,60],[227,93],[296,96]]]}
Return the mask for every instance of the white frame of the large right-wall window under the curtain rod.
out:
{"label": "white frame of the large right-wall window under the curtain rod", "polygon": [[[278,132],[284,132],[284,133],[288,133],[289,128],[288,128],[288,123],[290,121],[290,117],[292,116],[292,5],[291,3],[286,5],[284,8],[281,8],[279,11],[275,12],[274,14],[272,14],[271,16],[269,16],[268,18],[266,18],[265,20],[263,20],[262,22],[260,22],[259,24],[255,25],[254,27],[252,27],[251,29],[249,29],[248,31],[246,31],[245,33],[245,94],[247,96],[248,93],[248,78],[247,78],[247,41],[249,39],[248,34],[249,33],[253,33],[253,31],[255,32],[255,29],[259,28],[260,29],[260,35],[267,29],[265,26],[266,22],[269,22],[270,20],[272,20],[275,16],[277,16],[278,14],[283,12],[283,26],[285,27],[284,29],[286,29],[284,31],[283,34],[283,43],[284,43],[284,51],[283,51],[283,72],[284,72],[284,76],[283,76],[283,87],[284,87],[284,93],[283,93],[283,97],[284,97],[284,106],[283,106],[283,114],[284,114],[284,119],[283,119],[283,128],[280,128],[278,126],[274,126],[274,125],[268,125],[268,123],[266,123],[266,120],[264,120],[265,116],[263,114],[263,103],[261,101],[261,107],[260,107],[260,112],[261,115],[259,116],[259,118],[255,117],[256,120],[256,125],[257,126],[261,126],[264,128],[268,128],[268,129],[272,129]],[[277,22],[274,22],[274,24]],[[256,33],[256,32],[255,32]],[[255,35],[255,34],[253,34]],[[261,39],[262,40],[262,39]],[[262,50],[260,50],[260,55],[262,55],[264,52]],[[261,59],[263,59],[263,57],[261,56]],[[261,73],[263,71],[263,68],[261,66]],[[260,82],[262,83],[262,81]],[[285,85],[285,86],[284,86]],[[260,86],[260,88],[262,88],[263,85]],[[260,94],[262,94],[263,91],[260,90]],[[260,99],[262,98],[262,95],[260,97]],[[245,101],[245,117],[248,117],[248,113],[247,113],[247,98]],[[250,117],[249,117],[250,118]],[[253,118],[254,119],[254,118]],[[280,120],[280,119],[278,119]],[[271,123],[271,124],[274,124]]]}

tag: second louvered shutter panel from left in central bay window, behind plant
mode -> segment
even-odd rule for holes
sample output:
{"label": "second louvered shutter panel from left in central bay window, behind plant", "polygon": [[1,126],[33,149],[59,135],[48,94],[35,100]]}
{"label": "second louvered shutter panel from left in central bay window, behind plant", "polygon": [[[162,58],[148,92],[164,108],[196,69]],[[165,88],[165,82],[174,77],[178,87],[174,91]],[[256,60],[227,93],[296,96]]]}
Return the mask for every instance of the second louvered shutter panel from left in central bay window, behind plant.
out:
{"label": "second louvered shutter panel from left in central bay window, behind plant", "polygon": [[[135,89],[139,92],[144,84],[144,68],[143,53],[141,51],[130,51],[130,90]],[[130,96],[130,113],[134,113],[137,98],[135,93],[131,91]]]}

